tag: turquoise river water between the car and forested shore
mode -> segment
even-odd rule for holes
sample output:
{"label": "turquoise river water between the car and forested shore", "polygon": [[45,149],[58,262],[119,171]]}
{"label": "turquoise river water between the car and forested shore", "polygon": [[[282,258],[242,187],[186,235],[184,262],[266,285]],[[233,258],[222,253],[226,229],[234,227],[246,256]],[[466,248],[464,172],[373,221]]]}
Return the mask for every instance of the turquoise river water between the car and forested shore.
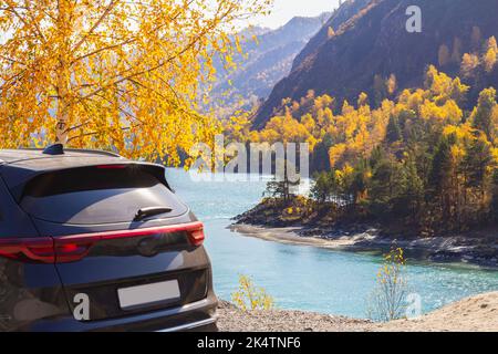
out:
{"label": "turquoise river water between the car and forested shore", "polygon": [[[282,244],[232,232],[227,229],[230,219],[258,204],[264,180],[199,181],[181,169],[168,169],[166,175],[177,195],[205,222],[219,298],[230,300],[238,275],[247,274],[280,309],[366,316],[381,257]],[[423,312],[429,312],[467,295],[498,290],[498,271],[408,259],[407,281],[411,292],[421,295]]]}

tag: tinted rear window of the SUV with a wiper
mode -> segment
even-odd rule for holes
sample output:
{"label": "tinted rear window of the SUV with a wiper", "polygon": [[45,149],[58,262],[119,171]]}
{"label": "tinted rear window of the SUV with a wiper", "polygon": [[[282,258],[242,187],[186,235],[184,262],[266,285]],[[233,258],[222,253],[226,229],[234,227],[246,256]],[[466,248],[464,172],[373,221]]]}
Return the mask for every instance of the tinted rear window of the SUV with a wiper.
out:
{"label": "tinted rear window of the SUV with a wiper", "polygon": [[141,166],[96,166],[46,173],[24,187],[20,206],[32,217],[74,225],[133,221],[142,208],[167,207],[175,217],[187,211],[175,195]]}

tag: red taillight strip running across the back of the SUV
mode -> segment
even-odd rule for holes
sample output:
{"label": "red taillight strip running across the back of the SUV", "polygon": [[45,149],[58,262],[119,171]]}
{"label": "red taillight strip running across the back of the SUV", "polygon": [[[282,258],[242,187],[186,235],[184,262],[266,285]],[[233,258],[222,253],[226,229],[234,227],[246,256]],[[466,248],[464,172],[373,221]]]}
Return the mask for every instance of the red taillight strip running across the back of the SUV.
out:
{"label": "red taillight strip running across the back of the SUV", "polygon": [[132,238],[148,235],[186,232],[190,244],[203,244],[205,235],[203,222],[189,222],[157,228],[125,231],[93,232],[64,237],[29,239],[0,239],[0,257],[25,262],[68,263],[89,254],[91,248],[102,240]]}

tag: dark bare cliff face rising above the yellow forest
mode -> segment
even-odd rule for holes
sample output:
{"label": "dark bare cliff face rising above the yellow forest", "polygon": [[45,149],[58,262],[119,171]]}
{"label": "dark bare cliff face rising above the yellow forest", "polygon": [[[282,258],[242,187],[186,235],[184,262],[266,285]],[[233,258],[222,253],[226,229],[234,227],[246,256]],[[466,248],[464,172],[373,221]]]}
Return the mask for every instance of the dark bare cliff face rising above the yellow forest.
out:
{"label": "dark bare cliff face rising above the yellow forest", "polygon": [[[413,4],[422,9],[422,33],[406,31],[406,9]],[[297,56],[289,76],[273,87],[253,126],[262,128],[283,98],[299,100],[309,90],[339,102],[355,101],[366,92],[374,101],[375,75],[386,79],[394,74],[398,92],[421,86],[429,64],[458,74],[464,53],[479,51],[487,38],[498,37],[496,13],[497,0],[372,0],[326,39],[325,24]],[[442,62],[443,45],[448,58]],[[469,84],[470,102],[483,87],[498,86],[498,71]]]}

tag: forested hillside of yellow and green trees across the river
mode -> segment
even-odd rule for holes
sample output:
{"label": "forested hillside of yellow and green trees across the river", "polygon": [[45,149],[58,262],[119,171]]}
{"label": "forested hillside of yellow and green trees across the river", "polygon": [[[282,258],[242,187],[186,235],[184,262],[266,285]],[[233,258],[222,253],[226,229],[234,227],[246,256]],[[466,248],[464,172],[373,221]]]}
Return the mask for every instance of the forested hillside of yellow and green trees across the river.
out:
{"label": "forested hillside of yellow and green trees across the river", "polygon": [[[476,70],[492,71],[496,39],[483,46]],[[466,110],[471,87],[459,77],[429,66],[422,81],[422,88],[404,90],[376,108],[365,93],[350,103],[310,91],[287,100],[283,114],[261,131],[251,131],[247,119],[232,121],[227,131],[239,140],[310,144],[312,168],[320,171],[312,199],[273,189],[279,208],[293,218],[370,220],[427,236],[496,225],[496,90],[483,90]]]}

